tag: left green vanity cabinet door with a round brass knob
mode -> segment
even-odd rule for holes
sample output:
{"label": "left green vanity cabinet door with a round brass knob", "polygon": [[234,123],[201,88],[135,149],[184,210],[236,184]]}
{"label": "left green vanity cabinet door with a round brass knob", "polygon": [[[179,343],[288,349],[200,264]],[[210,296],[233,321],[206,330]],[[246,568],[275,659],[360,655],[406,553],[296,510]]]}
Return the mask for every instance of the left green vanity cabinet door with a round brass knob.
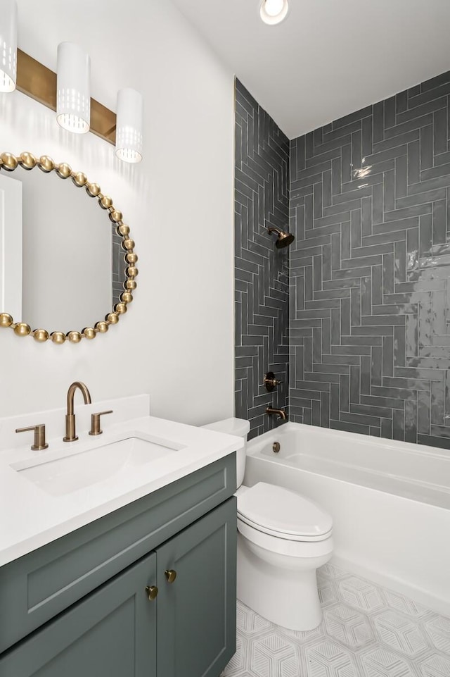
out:
{"label": "left green vanity cabinet door with a round brass knob", "polygon": [[155,677],[155,580],[153,552],[5,652],[1,677]]}

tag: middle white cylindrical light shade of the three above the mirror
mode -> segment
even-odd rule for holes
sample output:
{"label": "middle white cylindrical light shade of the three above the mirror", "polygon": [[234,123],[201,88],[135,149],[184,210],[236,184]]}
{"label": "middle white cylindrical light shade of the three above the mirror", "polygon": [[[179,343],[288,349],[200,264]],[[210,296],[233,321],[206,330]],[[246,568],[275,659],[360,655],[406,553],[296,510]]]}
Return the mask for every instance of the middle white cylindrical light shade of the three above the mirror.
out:
{"label": "middle white cylindrical light shade of the three above the mirror", "polygon": [[91,123],[91,59],[73,42],[58,44],[56,120],[65,130],[84,134]]}

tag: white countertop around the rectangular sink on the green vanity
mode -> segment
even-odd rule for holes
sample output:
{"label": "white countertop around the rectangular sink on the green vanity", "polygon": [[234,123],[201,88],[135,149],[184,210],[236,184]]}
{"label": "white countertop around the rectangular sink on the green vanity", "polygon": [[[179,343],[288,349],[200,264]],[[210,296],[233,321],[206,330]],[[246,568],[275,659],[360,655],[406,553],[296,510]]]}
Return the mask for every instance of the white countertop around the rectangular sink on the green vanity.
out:
{"label": "white countertop around the rectangular sink on the green vanity", "polygon": [[[34,455],[42,464],[58,454],[75,455],[89,445],[136,435],[171,440],[182,448],[63,495],[51,495],[13,467],[26,465]],[[0,451],[0,566],[243,447],[240,437],[153,416],[116,423],[94,438],[84,432],[77,442],[48,441],[49,449],[40,452],[30,451],[30,445]],[[89,464],[89,452],[84,456]]]}

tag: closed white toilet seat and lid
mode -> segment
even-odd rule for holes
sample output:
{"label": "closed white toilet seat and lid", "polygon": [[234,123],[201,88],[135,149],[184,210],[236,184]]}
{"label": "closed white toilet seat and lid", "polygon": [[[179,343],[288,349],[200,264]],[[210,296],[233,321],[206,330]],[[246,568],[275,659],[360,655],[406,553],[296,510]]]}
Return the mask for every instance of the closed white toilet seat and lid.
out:
{"label": "closed white toilet seat and lid", "polygon": [[297,542],[326,540],[333,527],[330,516],[313,501],[265,482],[239,492],[238,520],[259,532]]}

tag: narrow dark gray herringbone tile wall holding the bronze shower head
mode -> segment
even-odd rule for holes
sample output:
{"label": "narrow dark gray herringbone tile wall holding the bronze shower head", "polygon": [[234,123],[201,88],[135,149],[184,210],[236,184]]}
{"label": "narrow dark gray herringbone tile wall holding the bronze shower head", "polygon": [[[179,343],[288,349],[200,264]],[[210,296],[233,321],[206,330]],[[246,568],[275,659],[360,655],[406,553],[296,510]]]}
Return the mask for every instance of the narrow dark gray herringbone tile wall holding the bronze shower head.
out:
{"label": "narrow dark gray herringbone tile wall holding the bronze shower head", "polygon": [[[289,259],[264,227],[288,227],[289,140],[238,80],[235,130],[236,416],[251,438],[276,426],[268,404],[288,404]],[[271,393],[269,370],[283,380]]]}

